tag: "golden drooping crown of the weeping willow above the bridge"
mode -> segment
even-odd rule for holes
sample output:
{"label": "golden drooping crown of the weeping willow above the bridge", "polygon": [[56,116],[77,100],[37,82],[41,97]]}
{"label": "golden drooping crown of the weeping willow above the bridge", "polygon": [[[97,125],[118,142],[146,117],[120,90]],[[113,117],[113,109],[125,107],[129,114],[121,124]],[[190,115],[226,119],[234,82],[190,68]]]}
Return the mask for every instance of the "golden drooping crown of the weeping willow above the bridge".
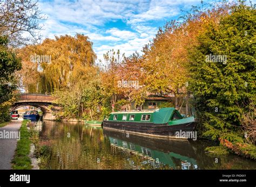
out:
{"label": "golden drooping crown of the weeping willow above the bridge", "polygon": [[88,37],[77,34],[45,39],[19,51],[21,80],[28,92],[52,93],[88,82],[95,72],[96,54]]}

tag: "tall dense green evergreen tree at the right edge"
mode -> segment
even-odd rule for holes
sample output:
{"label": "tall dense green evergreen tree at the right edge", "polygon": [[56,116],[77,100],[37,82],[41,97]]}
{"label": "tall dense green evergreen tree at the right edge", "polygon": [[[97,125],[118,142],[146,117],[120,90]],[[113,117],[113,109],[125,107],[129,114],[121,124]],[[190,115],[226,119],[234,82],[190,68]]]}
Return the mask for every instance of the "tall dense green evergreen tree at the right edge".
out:
{"label": "tall dense green evergreen tree at the right edge", "polygon": [[255,99],[255,9],[234,5],[210,23],[190,52],[191,91],[204,135],[242,142],[242,114]]}

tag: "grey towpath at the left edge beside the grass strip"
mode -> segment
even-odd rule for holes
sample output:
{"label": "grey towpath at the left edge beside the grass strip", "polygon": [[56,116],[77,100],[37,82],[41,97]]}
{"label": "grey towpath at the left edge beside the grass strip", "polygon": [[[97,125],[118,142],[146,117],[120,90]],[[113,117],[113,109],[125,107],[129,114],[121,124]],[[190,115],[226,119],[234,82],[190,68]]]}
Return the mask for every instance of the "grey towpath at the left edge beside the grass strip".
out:
{"label": "grey towpath at the left edge beside the grass strip", "polygon": [[[11,120],[10,123],[0,128],[0,132],[18,132],[22,121]],[[17,139],[0,139],[0,169],[11,169],[11,161],[15,154]]]}

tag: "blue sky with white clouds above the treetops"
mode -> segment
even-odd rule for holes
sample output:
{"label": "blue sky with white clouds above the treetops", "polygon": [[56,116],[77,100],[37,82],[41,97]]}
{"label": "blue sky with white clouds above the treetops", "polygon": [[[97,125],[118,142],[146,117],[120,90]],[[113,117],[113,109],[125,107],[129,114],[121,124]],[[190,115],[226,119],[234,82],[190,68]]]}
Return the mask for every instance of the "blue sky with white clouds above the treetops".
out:
{"label": "blue sky with white clouds above the treetops", "polygon": [[177,19],[191,5],[200,5],[200,0],[39,0],[48,17],[43,21],[44,38],[85,34],[98,60],[110,49],[120,49],[126,56],[141,52],[159,26]]}

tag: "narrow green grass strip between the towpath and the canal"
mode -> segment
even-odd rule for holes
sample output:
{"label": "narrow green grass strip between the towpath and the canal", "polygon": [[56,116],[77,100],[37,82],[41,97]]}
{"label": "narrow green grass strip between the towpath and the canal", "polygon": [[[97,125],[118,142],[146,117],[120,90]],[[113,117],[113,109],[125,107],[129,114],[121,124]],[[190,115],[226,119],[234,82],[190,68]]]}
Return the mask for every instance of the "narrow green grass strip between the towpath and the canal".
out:
{"label": "narrow green grass strip between the towpath and the canal", "polygon": [[21,140],[17,142],[14,159],[12,160],[12,169],[32,169],[30,153],[30,132],[26,127],[29,120],[23,120],[20,128]]}

